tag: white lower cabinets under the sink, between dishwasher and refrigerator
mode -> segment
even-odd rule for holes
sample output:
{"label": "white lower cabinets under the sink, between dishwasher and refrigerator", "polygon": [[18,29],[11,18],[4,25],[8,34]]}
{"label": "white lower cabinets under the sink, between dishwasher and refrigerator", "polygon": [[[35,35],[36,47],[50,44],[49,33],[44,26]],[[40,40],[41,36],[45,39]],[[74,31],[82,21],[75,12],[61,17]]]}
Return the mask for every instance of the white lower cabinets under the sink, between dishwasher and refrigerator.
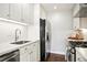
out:
{"label": "white lower cabinets under the sink, between dishwasher and refrigerator", "polygon": [[20,48],[20,62],[39,62],[40,42],[34,42]]}

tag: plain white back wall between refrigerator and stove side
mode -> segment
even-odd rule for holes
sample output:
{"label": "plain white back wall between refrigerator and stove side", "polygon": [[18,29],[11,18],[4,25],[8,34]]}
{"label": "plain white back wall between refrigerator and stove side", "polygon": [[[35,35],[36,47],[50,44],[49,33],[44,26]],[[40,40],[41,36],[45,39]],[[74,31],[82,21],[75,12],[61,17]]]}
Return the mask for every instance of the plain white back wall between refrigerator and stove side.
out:
{"label": "plain white back wall between refrigerator and stove side", "polygon": [[51,53],[65,54],[67,36],[72,31],[72,11],[57,11],[47,14],[47,20],[52,25]]}

